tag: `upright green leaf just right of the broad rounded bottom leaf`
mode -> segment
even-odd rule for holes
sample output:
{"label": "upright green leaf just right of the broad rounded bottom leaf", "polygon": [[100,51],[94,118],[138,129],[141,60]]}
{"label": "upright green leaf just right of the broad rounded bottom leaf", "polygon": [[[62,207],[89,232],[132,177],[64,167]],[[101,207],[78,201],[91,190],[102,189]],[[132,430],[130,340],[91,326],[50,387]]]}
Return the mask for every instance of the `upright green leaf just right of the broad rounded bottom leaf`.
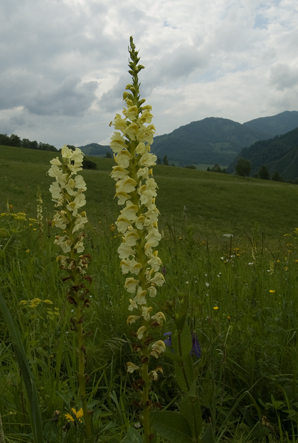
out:
{"label": "upright green leaf just right of the broad rounded bottom leaf", "polygon": [[202,415],[197,392],[197,380],[193,384],[181,402],[180,413],[187,419],[193,437],[198,438],[202,432]]}

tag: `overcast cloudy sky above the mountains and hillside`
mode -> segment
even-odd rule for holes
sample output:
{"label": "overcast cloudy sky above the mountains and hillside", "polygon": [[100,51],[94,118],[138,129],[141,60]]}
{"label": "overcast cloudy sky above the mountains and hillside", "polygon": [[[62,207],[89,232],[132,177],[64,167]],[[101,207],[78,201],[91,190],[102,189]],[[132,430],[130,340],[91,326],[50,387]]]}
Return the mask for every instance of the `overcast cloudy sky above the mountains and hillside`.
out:
{"label": "overcast cloudy sky above the mountains and hillside", "polygon": [[298,110],[298,0],[2,0],[0,133],[108,144],[130,35],[159,135]]}

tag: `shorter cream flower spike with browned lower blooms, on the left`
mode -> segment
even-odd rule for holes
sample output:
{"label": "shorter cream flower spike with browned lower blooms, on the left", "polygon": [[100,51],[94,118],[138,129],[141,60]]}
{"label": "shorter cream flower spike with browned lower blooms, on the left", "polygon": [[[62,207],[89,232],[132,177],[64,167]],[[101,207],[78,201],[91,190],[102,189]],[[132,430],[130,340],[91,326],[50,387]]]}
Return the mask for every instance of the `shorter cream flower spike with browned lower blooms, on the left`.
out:
{"label": "shorter cream flower spike with browned lower blooms, on the left", "polygon": [[[83,254],[85,234],[81,229],[88,219],[85,212],[79,213],[78,210],[86,203],[83,193],[86,190],[86,184],[83,177],[77,175],[77,172],[82,170],[83,154],[80,149],[72,150],[67,145],[62,148],[61,154],[62,161],[58,157],[51,160],[52,166],[48,171],[50,177],[55,177],[55,181],[50,186],[50,192],[57,208],[52,225],[63,230],[64,235],[57,235],[54,243],[60,246],[64,253],[64,255],[57,257],[57,261],[60,268],[68,274],[63,279],[70,284],[66,300],[74,306],[76,314],[74,318],[70,318],[70,328],[77,333],[77,376],[82,411],[79,410],[74,415],[80,422],[84,415],[85,432],[87,439],[90,439],[92,433],[85,387],[88,375],[85,374],[86,348],[84,345],[88,334],[83,330],[83,322],[84,310],[90,306],[90,300],[87,298],[89,290],[86,288],[85,282],[91,283],[92,281],[91,277],[86,275],[91,257],[89,254]],[[66,419],[69,419],[68,422],[74,421],[74,418],[71,419],[72,415],[68,415],[66,416]]]}

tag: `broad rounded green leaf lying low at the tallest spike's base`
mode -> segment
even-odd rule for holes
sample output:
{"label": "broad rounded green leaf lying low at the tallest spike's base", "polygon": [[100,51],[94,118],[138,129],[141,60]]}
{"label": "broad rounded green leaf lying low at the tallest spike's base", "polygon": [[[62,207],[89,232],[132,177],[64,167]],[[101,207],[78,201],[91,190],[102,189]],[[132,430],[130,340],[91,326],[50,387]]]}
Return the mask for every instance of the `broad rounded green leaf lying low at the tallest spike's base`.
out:
{"label": "broad rounded green leaf lying low at the tallest spike's base", "polygon": [[189,424],[179,412],[155,412],[152,427],[171,443],[192,443],[193,441]]}

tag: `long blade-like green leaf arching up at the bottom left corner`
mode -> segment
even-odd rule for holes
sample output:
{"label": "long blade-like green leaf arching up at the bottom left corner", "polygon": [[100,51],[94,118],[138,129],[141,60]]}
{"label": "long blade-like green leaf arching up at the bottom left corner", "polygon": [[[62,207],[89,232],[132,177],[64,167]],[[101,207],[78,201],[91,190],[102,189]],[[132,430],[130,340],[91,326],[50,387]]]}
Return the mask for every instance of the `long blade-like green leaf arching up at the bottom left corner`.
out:
{"label": "long blade-like green leaf arching up at the bottom left corner", "polygon": [[31,429],[33,432],[33,440],[35,443],[43,443],[43,432],[41,424],[41,416],[38,406],[37,391],[35,387],[34,377],[31,372],[26,352],[22,343],[20,333],[15,322],[7,308],[5,300],[0,292],[0,309],[3,313],[7,324],[9,334],[11,336],[13,349],[16,359],[20,366],[21,374],[23,376],[27,396],[28,396],[28,413],[30,418]]}

